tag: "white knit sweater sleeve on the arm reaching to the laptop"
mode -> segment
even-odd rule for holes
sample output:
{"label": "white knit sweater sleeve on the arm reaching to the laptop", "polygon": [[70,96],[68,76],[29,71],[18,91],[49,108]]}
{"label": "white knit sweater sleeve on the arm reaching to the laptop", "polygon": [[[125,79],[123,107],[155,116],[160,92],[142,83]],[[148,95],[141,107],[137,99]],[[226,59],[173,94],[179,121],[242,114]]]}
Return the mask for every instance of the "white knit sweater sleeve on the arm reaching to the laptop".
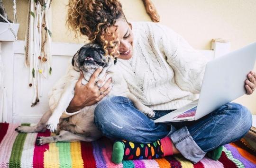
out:
{"label": "white knit sweater sleeve on the arm reaching to the laptop", "polygon": [[162,52],[174,70],[176,84],[184,91],[200,93],[208,59],[193,49],[181,35],[168,27],[158,26],[162,29],[158,46],[162,46]]}

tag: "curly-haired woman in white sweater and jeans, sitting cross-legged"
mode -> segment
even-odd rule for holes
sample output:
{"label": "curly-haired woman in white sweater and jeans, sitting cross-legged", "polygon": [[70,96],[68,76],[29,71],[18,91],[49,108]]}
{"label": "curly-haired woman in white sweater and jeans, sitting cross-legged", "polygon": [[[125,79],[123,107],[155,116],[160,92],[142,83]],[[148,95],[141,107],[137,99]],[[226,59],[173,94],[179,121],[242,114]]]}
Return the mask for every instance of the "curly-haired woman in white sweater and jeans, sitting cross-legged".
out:
{"label": "curly-haired woman in white sweater and jeans, sitting cross-legged", "polygon": [[[247,133],[252,125],[251,114],[236,103],[228,103],[197,121],[155,124],[153,119],[198,98],[205,57],[163,25],[129,23],[118,0],[70,0],[68,6],[70,28],[117,57],[130,92],[155,110],[155,118],[148,118],[125,97],[105,99],[96,107],[96,126],[105,136],[117,140],[113,162],[181,153],[196,163],[207,152],[217,160],[222,145]],[[91,80],[100,71],[95,71]],[[82,85],[81,79],[67,112],[92,105],[110,92],[111,79],[100,88],[104,79],[94,86]],[[256,74],[251,71],[245,81],[247,94],[252,94],[255,86]]]}

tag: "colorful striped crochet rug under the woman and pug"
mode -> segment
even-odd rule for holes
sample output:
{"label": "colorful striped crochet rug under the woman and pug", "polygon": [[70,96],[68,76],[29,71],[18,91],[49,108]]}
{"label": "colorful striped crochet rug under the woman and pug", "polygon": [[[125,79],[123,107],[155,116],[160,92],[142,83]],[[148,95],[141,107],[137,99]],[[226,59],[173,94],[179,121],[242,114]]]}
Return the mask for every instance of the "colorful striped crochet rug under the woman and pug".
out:
{"label": "colorful striped crochet rug under the woman and pug", "polygon": [[92,143],[37,146],[37,136],[50,136],[51,133],[18,134],[17,126],[0,123],[0,168],[256,168],[256,153],[239,141],[225,145],[218,161],[205,157],[192,164],[181,155],[175,155],[115,165],[110,161],[112,143],[107,138]]}

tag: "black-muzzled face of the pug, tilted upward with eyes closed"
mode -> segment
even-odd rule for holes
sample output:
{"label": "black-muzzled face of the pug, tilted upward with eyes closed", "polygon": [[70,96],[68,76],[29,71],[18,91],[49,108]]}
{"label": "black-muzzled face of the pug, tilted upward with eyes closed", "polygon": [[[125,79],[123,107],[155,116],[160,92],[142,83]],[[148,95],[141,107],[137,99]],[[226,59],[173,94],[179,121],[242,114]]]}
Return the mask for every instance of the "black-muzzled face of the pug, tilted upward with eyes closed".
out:
{"label": "black-muzzled face of the pug, tilted upward with eyes closed", "polygon": [[105,52],[99,44],[88,43],[74,55],[72,65],[76,71],[82,70],[85,79],[89,80],[97,68],[108,66],[110,57],[107,59],[104,55]]}

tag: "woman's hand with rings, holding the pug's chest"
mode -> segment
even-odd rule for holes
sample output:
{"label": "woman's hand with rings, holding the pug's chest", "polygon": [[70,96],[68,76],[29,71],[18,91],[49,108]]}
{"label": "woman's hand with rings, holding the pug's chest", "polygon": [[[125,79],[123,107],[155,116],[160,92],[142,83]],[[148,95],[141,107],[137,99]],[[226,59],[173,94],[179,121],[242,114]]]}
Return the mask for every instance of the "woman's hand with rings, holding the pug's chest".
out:
{"label": "woman's hand with rings, holding the pug's chest", "polygon": [[[70,104],[66,111],[68,113],[73,113],[75,111],[78,111],[85,106],[91,106],[99,101],[103,97],[105,97],[111,90],[110,84],[111,84],[111,78],[101,87],[99,88],[95,83],[96,79],[99,76],[99,74],[102,71],[102,67],[98,68],[92,75],[89,80],[89,82],[85,85],[82,84],[83,74],[80,72],[80,78],[77,81],[75,85],[75,91],[74,91],[74,97],[72,101],[70,101]],[[106,76],[105,76],[106,77]],[[97,84],[101,85],[103,84],[104,79],[100,79]],[[101,94],[101,92],[103,94]]]}

